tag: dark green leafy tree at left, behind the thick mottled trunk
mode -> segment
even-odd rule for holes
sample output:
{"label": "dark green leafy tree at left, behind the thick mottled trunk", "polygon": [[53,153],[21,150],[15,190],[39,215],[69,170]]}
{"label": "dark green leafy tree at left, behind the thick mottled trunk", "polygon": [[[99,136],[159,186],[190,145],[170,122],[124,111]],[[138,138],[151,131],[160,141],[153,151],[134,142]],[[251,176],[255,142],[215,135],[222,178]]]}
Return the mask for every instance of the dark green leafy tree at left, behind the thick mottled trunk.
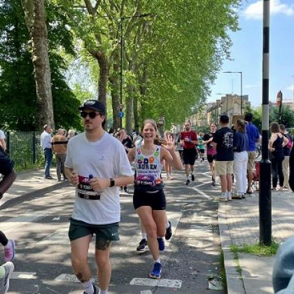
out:
{"label": "dark green leafy tree at left, behind the thick mottled trunk", "polygon": [[[66,29],[64,12],[48,1],[46,6],[50,40],[50,69],[55,123],[80,129],[80,104],[65,83],[66,64],[62,50],[73,55],[72,35]],[[0,120],[10,130],[39,130],[36,85],[31,63],[29,31],[20,0],[1,1],[0,10]]]}

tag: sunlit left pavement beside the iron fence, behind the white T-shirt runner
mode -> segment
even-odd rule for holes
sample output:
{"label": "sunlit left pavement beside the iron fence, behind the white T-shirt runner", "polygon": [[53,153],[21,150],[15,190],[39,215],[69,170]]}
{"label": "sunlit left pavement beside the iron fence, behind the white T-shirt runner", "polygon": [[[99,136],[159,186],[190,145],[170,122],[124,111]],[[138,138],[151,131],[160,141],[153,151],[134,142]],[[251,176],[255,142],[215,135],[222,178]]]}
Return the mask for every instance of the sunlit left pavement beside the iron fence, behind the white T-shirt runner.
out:
{"label": "sunlit left pavement beside the iron fence, behind the white T-shirt runner", "polygon": [[68,181],[57,181],[56,168],[50,169],[50,174],[53,176],[52,180],[44,179],[44,169],[18,173],[13,185],[0,200],[0,209],[18,201],[18,198],[23,195],[36,197],[38,194],[49,193],[52,190],[69,185]]}

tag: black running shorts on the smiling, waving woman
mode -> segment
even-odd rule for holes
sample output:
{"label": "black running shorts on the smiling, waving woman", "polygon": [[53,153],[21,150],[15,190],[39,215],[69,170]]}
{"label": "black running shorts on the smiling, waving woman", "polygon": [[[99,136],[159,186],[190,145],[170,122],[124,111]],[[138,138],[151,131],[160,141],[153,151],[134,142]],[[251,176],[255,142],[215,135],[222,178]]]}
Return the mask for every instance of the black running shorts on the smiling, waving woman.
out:
{"label": "black running shorts on the smiling, waving woman", "polygon": [[139,185],[134,186],[133,204],[134,209],[138,209],[139,207],[151,207],[152,210],[165,210],[167,207],[163,189],[146,191],[146,189],[141,189]]}

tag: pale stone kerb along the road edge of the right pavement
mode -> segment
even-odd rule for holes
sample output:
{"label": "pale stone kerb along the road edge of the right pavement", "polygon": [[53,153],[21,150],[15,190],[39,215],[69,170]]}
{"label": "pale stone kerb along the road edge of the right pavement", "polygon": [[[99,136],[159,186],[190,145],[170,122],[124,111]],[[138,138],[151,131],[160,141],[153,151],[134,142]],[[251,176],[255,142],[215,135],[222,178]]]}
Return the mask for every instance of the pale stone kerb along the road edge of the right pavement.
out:
{"label": "pale stone kerb along the road edge of the right pavement", "polygon": [[236,269],[235,255],[230,250],[232,239],[229,226],[225,218],[227,205],[225,202],[218,203],[218,228],[221,236],[221,248],[225,264],[225,279],[227,280],[228,294],[246,294],[242,276]]}

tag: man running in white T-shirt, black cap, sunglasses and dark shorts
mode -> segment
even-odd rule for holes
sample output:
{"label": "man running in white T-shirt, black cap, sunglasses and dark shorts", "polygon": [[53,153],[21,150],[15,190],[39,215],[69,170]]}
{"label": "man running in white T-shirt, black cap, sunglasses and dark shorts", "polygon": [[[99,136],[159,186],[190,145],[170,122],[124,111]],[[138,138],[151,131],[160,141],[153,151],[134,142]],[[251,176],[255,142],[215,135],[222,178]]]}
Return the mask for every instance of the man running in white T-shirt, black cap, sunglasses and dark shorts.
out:
{"label": "man running in white T-shirt, black cap, sunglasses and dark shorts", "polygon": [[[85,132],[69,140],[65,162],[65,174],[76,186],[69,226],[71,263],[85,294],[106,294],[111,279],[111,241],[119,240],[119,187],[132,183],[134,176],[123,145],[103,129],[104,104],[88,100],[79,110]],[[100,292],[90,281],[87,263],[94,234]]]}

